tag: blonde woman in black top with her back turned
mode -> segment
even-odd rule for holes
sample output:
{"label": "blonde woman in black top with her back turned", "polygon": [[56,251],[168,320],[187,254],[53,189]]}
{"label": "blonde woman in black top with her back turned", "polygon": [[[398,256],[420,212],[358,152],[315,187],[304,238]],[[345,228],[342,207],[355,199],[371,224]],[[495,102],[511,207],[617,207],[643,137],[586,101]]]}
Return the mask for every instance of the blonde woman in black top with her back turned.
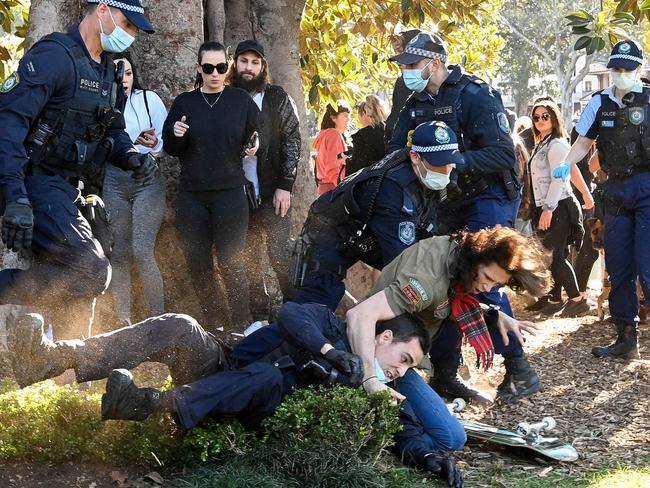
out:
{"label": "blonde woman in black top with her back turned", "polygon": [[352,134],[352,157],[347,162],[346,175],[375,164],[385,156],[384,131],[386,109],[375,95],[368,95],[358,106],[361,129]]}

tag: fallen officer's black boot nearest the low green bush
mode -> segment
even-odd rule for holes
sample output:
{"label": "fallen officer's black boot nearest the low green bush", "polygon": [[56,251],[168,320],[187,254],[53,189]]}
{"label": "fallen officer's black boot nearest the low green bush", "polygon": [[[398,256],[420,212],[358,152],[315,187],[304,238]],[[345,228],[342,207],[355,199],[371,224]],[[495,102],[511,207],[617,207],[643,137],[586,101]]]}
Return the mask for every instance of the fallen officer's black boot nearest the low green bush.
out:
{"label": "fallen officer's black boot nearest the low green bush", "polygon": [[108,375],[102,395],[102,420],[145,420],[165,410],[163,394],[154,388],[138,388],[126,369],[114,369]]}

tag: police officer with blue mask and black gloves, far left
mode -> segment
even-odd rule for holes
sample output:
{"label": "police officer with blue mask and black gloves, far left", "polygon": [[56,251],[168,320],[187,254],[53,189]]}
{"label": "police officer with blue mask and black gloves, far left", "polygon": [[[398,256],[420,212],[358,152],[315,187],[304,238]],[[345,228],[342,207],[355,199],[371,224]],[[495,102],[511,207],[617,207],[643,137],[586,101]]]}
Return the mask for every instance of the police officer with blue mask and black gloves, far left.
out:
{"label": "police officer with blue mask and black gloves, far left", "polygon": [[28,270],[0,271],[0,303],[41,305],[51,294],[92,302],[110,264],[75,205],[81,182],[101,179],[107,161],[143,183],[157,170],[124,131],[110,54],[153,26],[139,0],[88,3],[80,24],[39,40],[0,86],[2,240],[34,258]]}

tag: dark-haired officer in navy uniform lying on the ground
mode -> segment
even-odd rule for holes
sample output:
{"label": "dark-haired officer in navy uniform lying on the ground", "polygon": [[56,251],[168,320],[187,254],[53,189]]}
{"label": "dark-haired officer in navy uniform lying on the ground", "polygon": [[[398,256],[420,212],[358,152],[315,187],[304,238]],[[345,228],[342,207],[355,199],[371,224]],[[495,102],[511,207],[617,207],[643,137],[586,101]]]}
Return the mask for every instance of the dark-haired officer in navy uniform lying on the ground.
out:
{"label": "dark-haired officer in navy uniform lying on the ground", "polygon": [[[373,375],[390,382],[415,366],[429,347],[429,336],[413,316],[377,323]],[[278,321],[242,340],[234,349],[207,333],[191,317],[165,314],[85,340],[52,342],[43,334],[39,315],[21,316],[10,334],[14,375],[21,387],[74,369],[78,382],[108,377],[102,396],[102,418],[144,420],[170,412],[184,429],[206,416],[235,416],[255,427],[271,415],[292,388],[343,383],[359,386],[364,371],[350,353],[346,324],[326,307],[286,303]],[[169,367],[175,388],[138,388],[126,369],[144,361]],[[465,434],[445,409],[446,432],[462,441]],[[408,402],[400,408],[404,430],[398,446],[409,464],[461,487],[462,476],[452,460],[436,451],[448,446],[419,425]]]}

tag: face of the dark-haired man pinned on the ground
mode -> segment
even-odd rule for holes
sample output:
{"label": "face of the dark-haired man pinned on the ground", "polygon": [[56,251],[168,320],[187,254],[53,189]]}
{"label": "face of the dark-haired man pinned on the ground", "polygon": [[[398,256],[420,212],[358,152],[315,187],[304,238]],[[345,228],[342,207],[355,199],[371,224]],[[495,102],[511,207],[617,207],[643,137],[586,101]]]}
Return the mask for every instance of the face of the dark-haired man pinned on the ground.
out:
{"label": "face of the dark-haired man pinned on the ground", "polygon": [[404,376],[406,371],[417,365],[423,357],[424,351],[417,337],[408,342],[396,342],[391,330],[375,337],[375,359],[389,380]]}

